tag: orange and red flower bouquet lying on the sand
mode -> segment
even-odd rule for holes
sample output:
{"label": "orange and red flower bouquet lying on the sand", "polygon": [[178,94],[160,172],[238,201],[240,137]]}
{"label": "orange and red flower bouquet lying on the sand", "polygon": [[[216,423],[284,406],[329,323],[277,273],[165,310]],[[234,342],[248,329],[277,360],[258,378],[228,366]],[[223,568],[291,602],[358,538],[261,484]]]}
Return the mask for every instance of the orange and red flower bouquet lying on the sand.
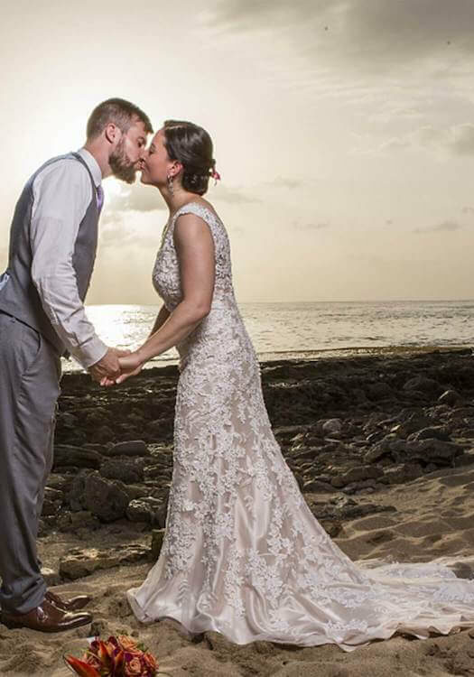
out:
{"label": "orange and red flower bouquet lying on the sand", "polygon": [[79,677],[156,677],[158,663],[143,645],[127,635],[109,637],[106,642],[94,639],[82,660],[64,656]]}

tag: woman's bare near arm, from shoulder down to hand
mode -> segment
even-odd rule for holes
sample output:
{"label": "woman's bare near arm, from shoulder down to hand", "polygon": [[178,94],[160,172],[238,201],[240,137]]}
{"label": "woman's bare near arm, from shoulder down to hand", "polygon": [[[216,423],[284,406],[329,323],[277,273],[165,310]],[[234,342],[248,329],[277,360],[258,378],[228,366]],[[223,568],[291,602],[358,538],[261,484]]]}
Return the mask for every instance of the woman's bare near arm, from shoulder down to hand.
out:
{"label": "woman's bare near arm, from shoulder down to hand", "polygon": [[214,241],[209,227],[194,214],[183,215],[176,220],[174,243],[180,264],[182,300],[143,346],[120,359],[126,373],[116,383],[122,383],[129,372],[180,343],[209,314],[215,274]]}

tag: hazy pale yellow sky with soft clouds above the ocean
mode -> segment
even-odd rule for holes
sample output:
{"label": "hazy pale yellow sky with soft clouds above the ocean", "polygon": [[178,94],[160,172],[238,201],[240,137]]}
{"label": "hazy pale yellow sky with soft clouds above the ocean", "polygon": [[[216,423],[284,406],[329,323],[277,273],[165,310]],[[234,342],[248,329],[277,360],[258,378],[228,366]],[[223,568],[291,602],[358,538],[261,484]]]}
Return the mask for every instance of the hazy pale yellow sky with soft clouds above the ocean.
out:
{"label": "hazy pale yellow sky with soft clouds above the ocean", "polygon": [[[214,139],[240,301],[474,297],[472,0],[5,0],[0,268],[24,181],[125,97]],[[89,303],[154,303],[159,192],[107,179]]]}

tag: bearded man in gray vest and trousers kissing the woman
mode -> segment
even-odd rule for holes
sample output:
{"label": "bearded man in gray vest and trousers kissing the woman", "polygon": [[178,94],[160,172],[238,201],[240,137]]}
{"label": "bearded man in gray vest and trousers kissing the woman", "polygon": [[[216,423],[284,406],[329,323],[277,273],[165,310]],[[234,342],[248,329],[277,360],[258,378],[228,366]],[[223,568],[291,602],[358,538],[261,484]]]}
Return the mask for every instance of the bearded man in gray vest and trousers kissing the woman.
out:
{"label": "bearded man in gray vest and trousers kissing the woman", "polygon": [[77,153],[49,160],[27,181],[14,210],[8,268],[0,275],[0,588],[8,627],[58,632],[86,625],[85,596],[46,589],[36,550],[52,466],[60,356],[96,381],[120,374],[120,351],[98,338],[84,311],[104,194],[114,175],[133,183],[153,132],[121,98],[99,104]]}

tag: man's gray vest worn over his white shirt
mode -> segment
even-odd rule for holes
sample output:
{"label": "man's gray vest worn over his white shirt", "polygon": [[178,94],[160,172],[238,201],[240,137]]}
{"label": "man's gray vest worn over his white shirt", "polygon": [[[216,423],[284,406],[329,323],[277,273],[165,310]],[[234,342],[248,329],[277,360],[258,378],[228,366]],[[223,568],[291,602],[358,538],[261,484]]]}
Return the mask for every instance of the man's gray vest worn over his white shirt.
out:
{"label": "man's gray vest worn over his white shirt", "polygon": [[86,214],[79,225],[79,232],[72,255],[72,267],[76,274],[79,297],[86,298],[98,244],[98,203],[97,190],[86,162],[77,153],[68,153],[52,158],[45,162],[37,172],[27,181],[20,199],[16,203],[14,219],[10,230],[10,251],[8,268],[0,276],[0,311],[13,315],[17,320],[41,332],[53,348],[62,355],[65,347],[60,337],[53,329],[48,316],[42,309],[42,301],[32,280],[32,248],[30,243],[32,208],[33,208],[33,181],[44,167],[59,160],[81,162],[88,171],[92,185],[92,199]]}

